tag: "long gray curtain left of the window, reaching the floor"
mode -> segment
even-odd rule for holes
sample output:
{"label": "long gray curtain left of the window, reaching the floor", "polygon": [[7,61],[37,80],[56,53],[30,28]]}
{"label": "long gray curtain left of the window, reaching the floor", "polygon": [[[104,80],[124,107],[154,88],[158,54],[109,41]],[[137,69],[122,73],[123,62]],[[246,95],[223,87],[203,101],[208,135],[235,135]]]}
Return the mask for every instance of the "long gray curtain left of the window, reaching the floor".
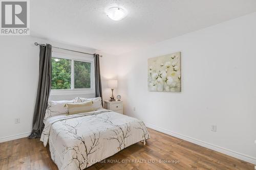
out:
{"label": "long gray curtain left of the window, reaching the floor", "polygon": [[52,71],[52,46],[40,46],[39,54],[39,79],[37,86],[36,103],[33,117],[33,129],[29,136],[30,139],[41,136],[44,129],[44,120],[46,107],[51,91],[51,71]]}

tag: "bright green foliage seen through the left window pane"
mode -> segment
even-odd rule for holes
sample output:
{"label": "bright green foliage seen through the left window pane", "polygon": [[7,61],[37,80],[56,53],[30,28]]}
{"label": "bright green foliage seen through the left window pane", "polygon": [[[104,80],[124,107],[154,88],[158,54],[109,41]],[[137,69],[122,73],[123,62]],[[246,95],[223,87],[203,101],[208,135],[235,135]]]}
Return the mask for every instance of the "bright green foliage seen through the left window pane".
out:
{"label": "bright green foliage seen through the left window pane", "polygon": [[52,58],[52,89],[71,89],[71,60]]}

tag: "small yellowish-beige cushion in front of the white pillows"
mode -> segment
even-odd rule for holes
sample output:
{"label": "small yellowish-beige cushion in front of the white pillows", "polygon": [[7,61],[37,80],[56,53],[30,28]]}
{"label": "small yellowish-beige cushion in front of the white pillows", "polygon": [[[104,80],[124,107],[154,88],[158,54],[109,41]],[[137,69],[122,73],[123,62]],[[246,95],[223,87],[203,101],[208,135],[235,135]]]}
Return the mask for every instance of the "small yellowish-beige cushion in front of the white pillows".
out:
{"label": "small yellowish-beige cushion in front of the white pillows", "polygon": [[68,108],[69,114],[86,113],[94,111],[93,101],[83,103],[67,103],[65,107]]}

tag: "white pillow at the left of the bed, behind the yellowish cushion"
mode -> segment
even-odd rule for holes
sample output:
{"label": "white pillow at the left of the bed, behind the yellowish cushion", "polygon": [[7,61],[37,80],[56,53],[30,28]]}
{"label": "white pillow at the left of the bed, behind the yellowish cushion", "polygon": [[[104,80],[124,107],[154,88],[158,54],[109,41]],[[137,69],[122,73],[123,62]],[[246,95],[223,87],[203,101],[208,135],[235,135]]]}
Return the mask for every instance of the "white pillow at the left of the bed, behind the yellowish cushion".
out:
{"label": "white pillow at the left of the bed, behind the yellowish cushion", "polygon": [[58,114],[67,114],[69,113],[68,108],[64,107],[67,103],[74,103],[74,100],[71,101],[49,101],[46,108],[46,114],[44,121],[48,117],[52,117]]}

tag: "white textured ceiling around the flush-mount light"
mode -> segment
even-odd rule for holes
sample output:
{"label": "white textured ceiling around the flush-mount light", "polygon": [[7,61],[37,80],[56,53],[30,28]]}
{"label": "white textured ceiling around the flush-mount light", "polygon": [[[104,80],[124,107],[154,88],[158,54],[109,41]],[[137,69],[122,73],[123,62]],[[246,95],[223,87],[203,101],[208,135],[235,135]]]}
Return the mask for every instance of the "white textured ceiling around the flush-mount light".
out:
{"label": "white textured ceiling around the flush-mount light", "polygon": [[[256,11],[255,0],[33,0],[31,35],[119,55]],[[114,21],[105,8],[119,6]]]}

